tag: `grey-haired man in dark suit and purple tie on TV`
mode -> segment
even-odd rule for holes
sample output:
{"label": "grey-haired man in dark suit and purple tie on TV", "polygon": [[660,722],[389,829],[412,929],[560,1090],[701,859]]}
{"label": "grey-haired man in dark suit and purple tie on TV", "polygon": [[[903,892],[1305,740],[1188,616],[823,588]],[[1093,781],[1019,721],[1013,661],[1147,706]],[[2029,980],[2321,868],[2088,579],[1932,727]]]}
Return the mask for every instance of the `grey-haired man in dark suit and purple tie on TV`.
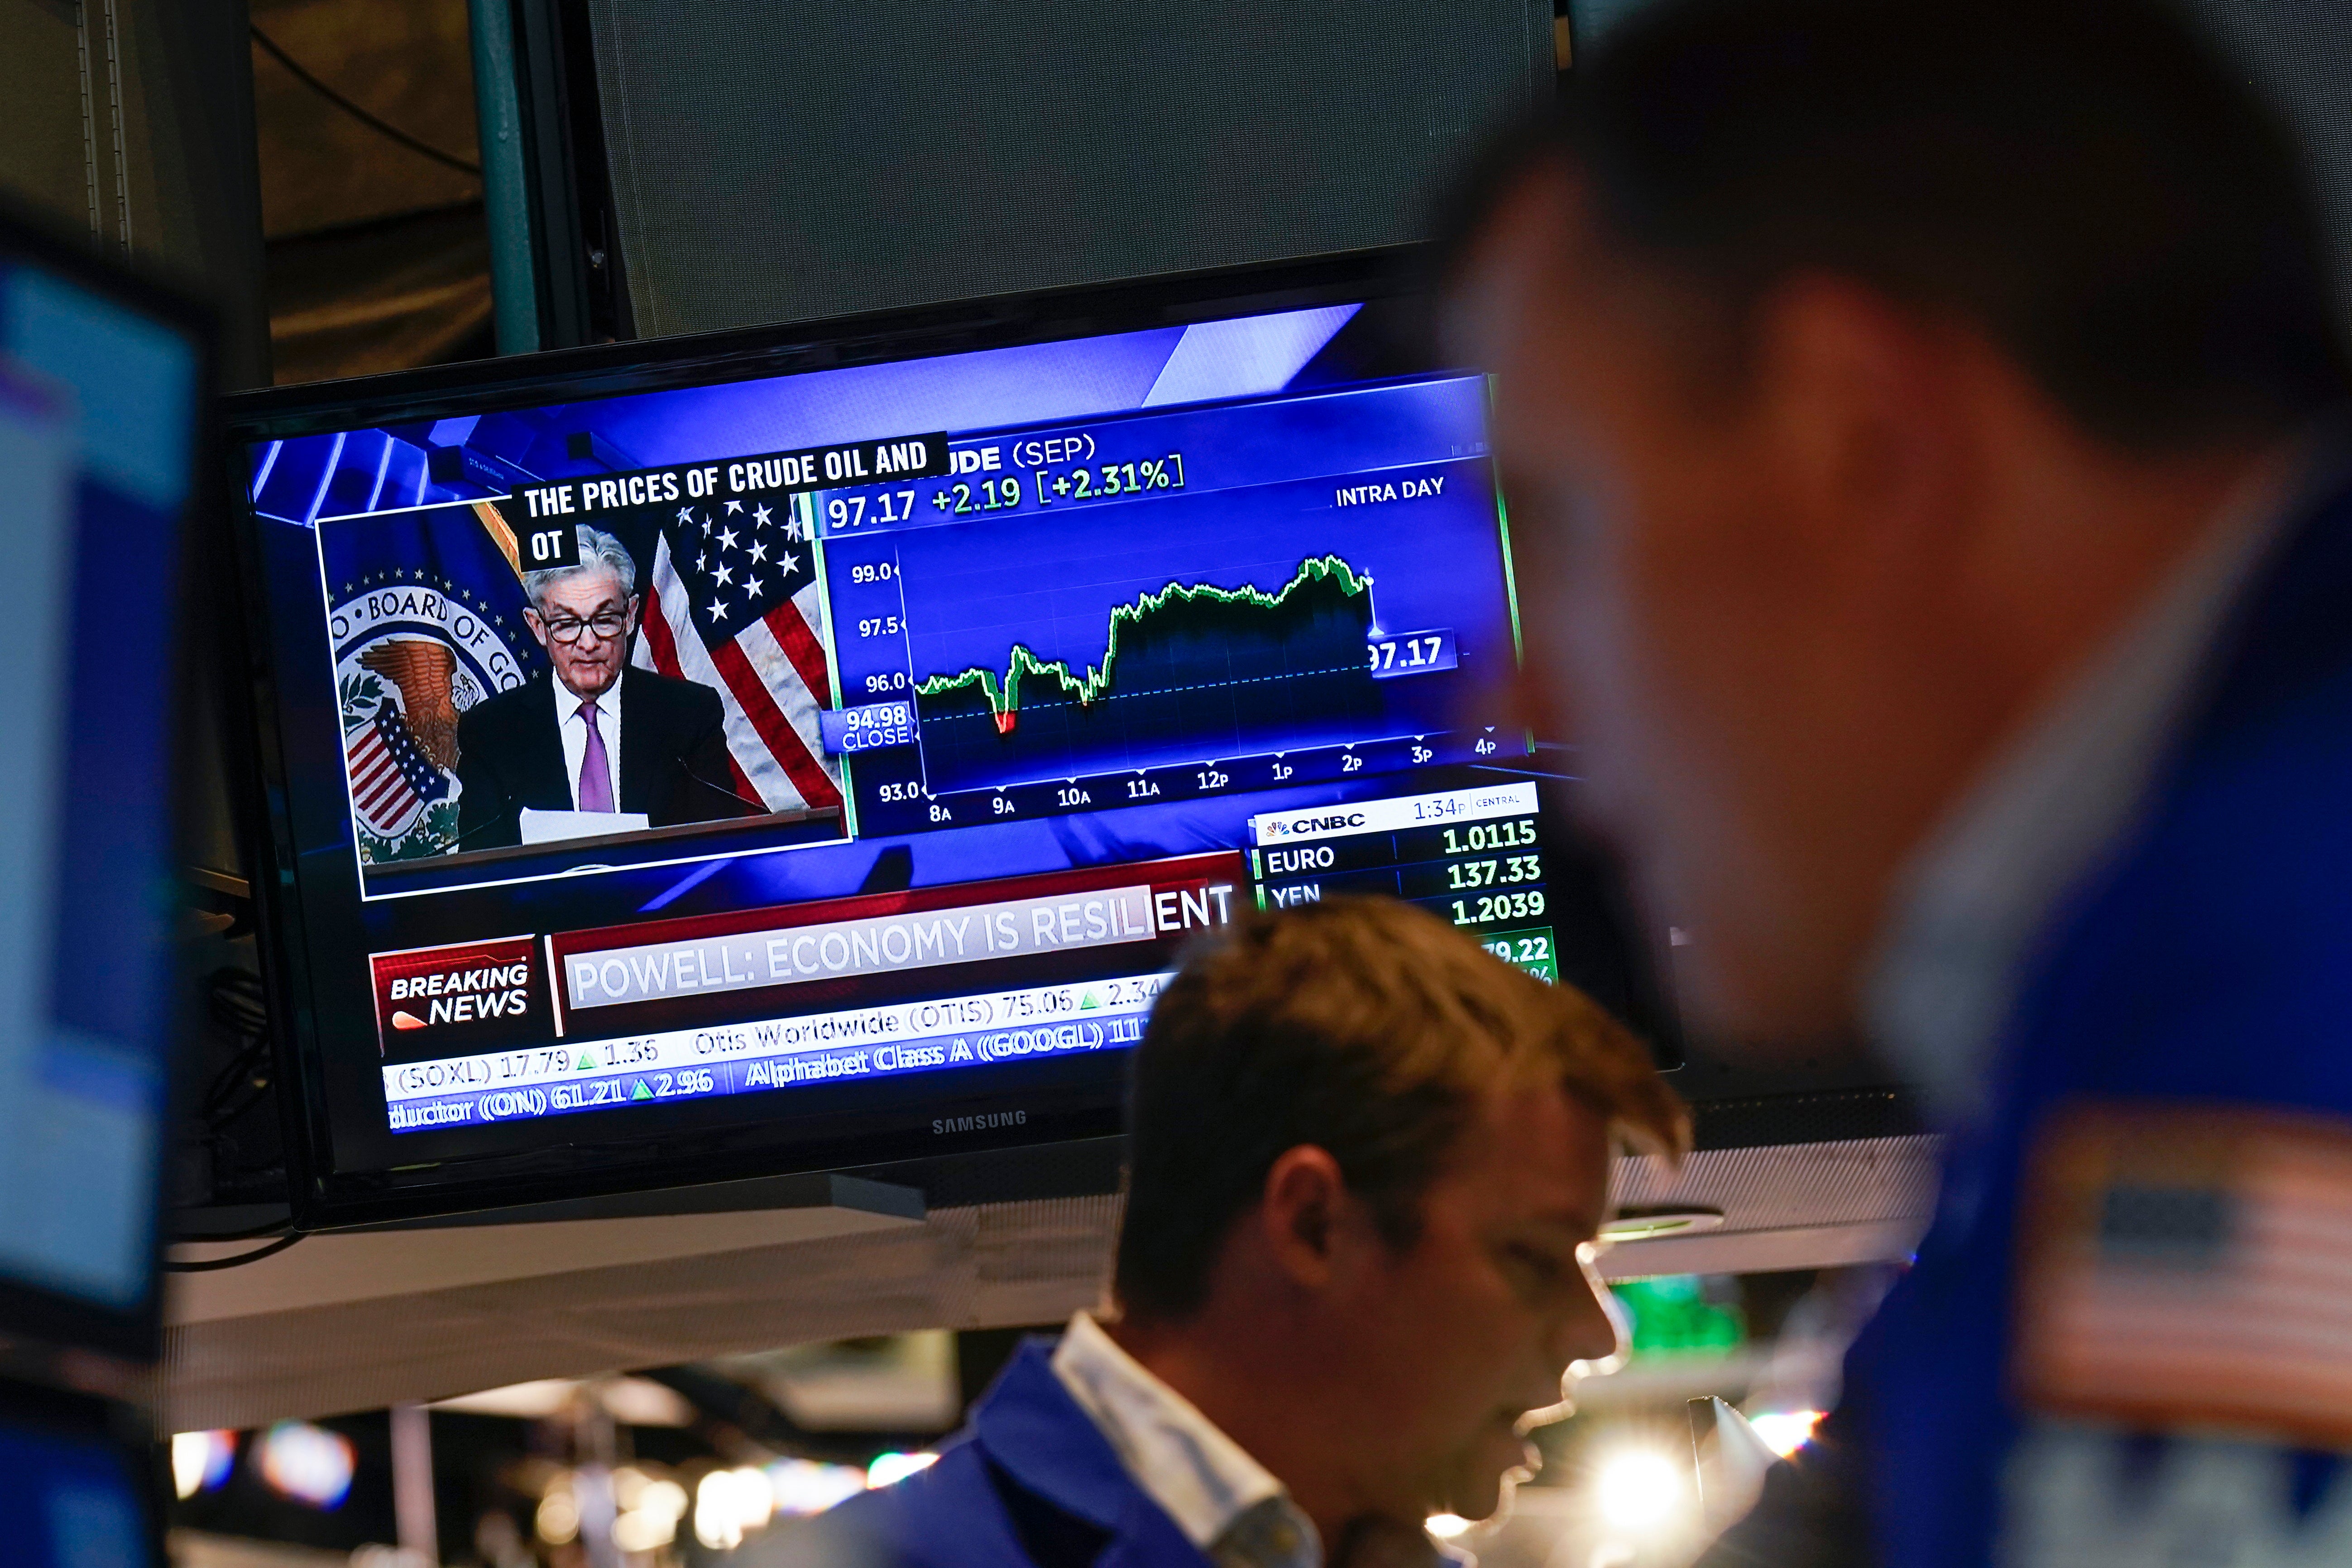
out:
{"label": "grey-haired man in dark suit and purple tie on TV", "polygon": [[459,849],[522,842],[524,811],[644,813],[652,827],[753,816],[731,788],[720,693],[628,668],[637,564],[581,524],[579,564],[524,571],[524,625],[553,670],[459,719]]}

